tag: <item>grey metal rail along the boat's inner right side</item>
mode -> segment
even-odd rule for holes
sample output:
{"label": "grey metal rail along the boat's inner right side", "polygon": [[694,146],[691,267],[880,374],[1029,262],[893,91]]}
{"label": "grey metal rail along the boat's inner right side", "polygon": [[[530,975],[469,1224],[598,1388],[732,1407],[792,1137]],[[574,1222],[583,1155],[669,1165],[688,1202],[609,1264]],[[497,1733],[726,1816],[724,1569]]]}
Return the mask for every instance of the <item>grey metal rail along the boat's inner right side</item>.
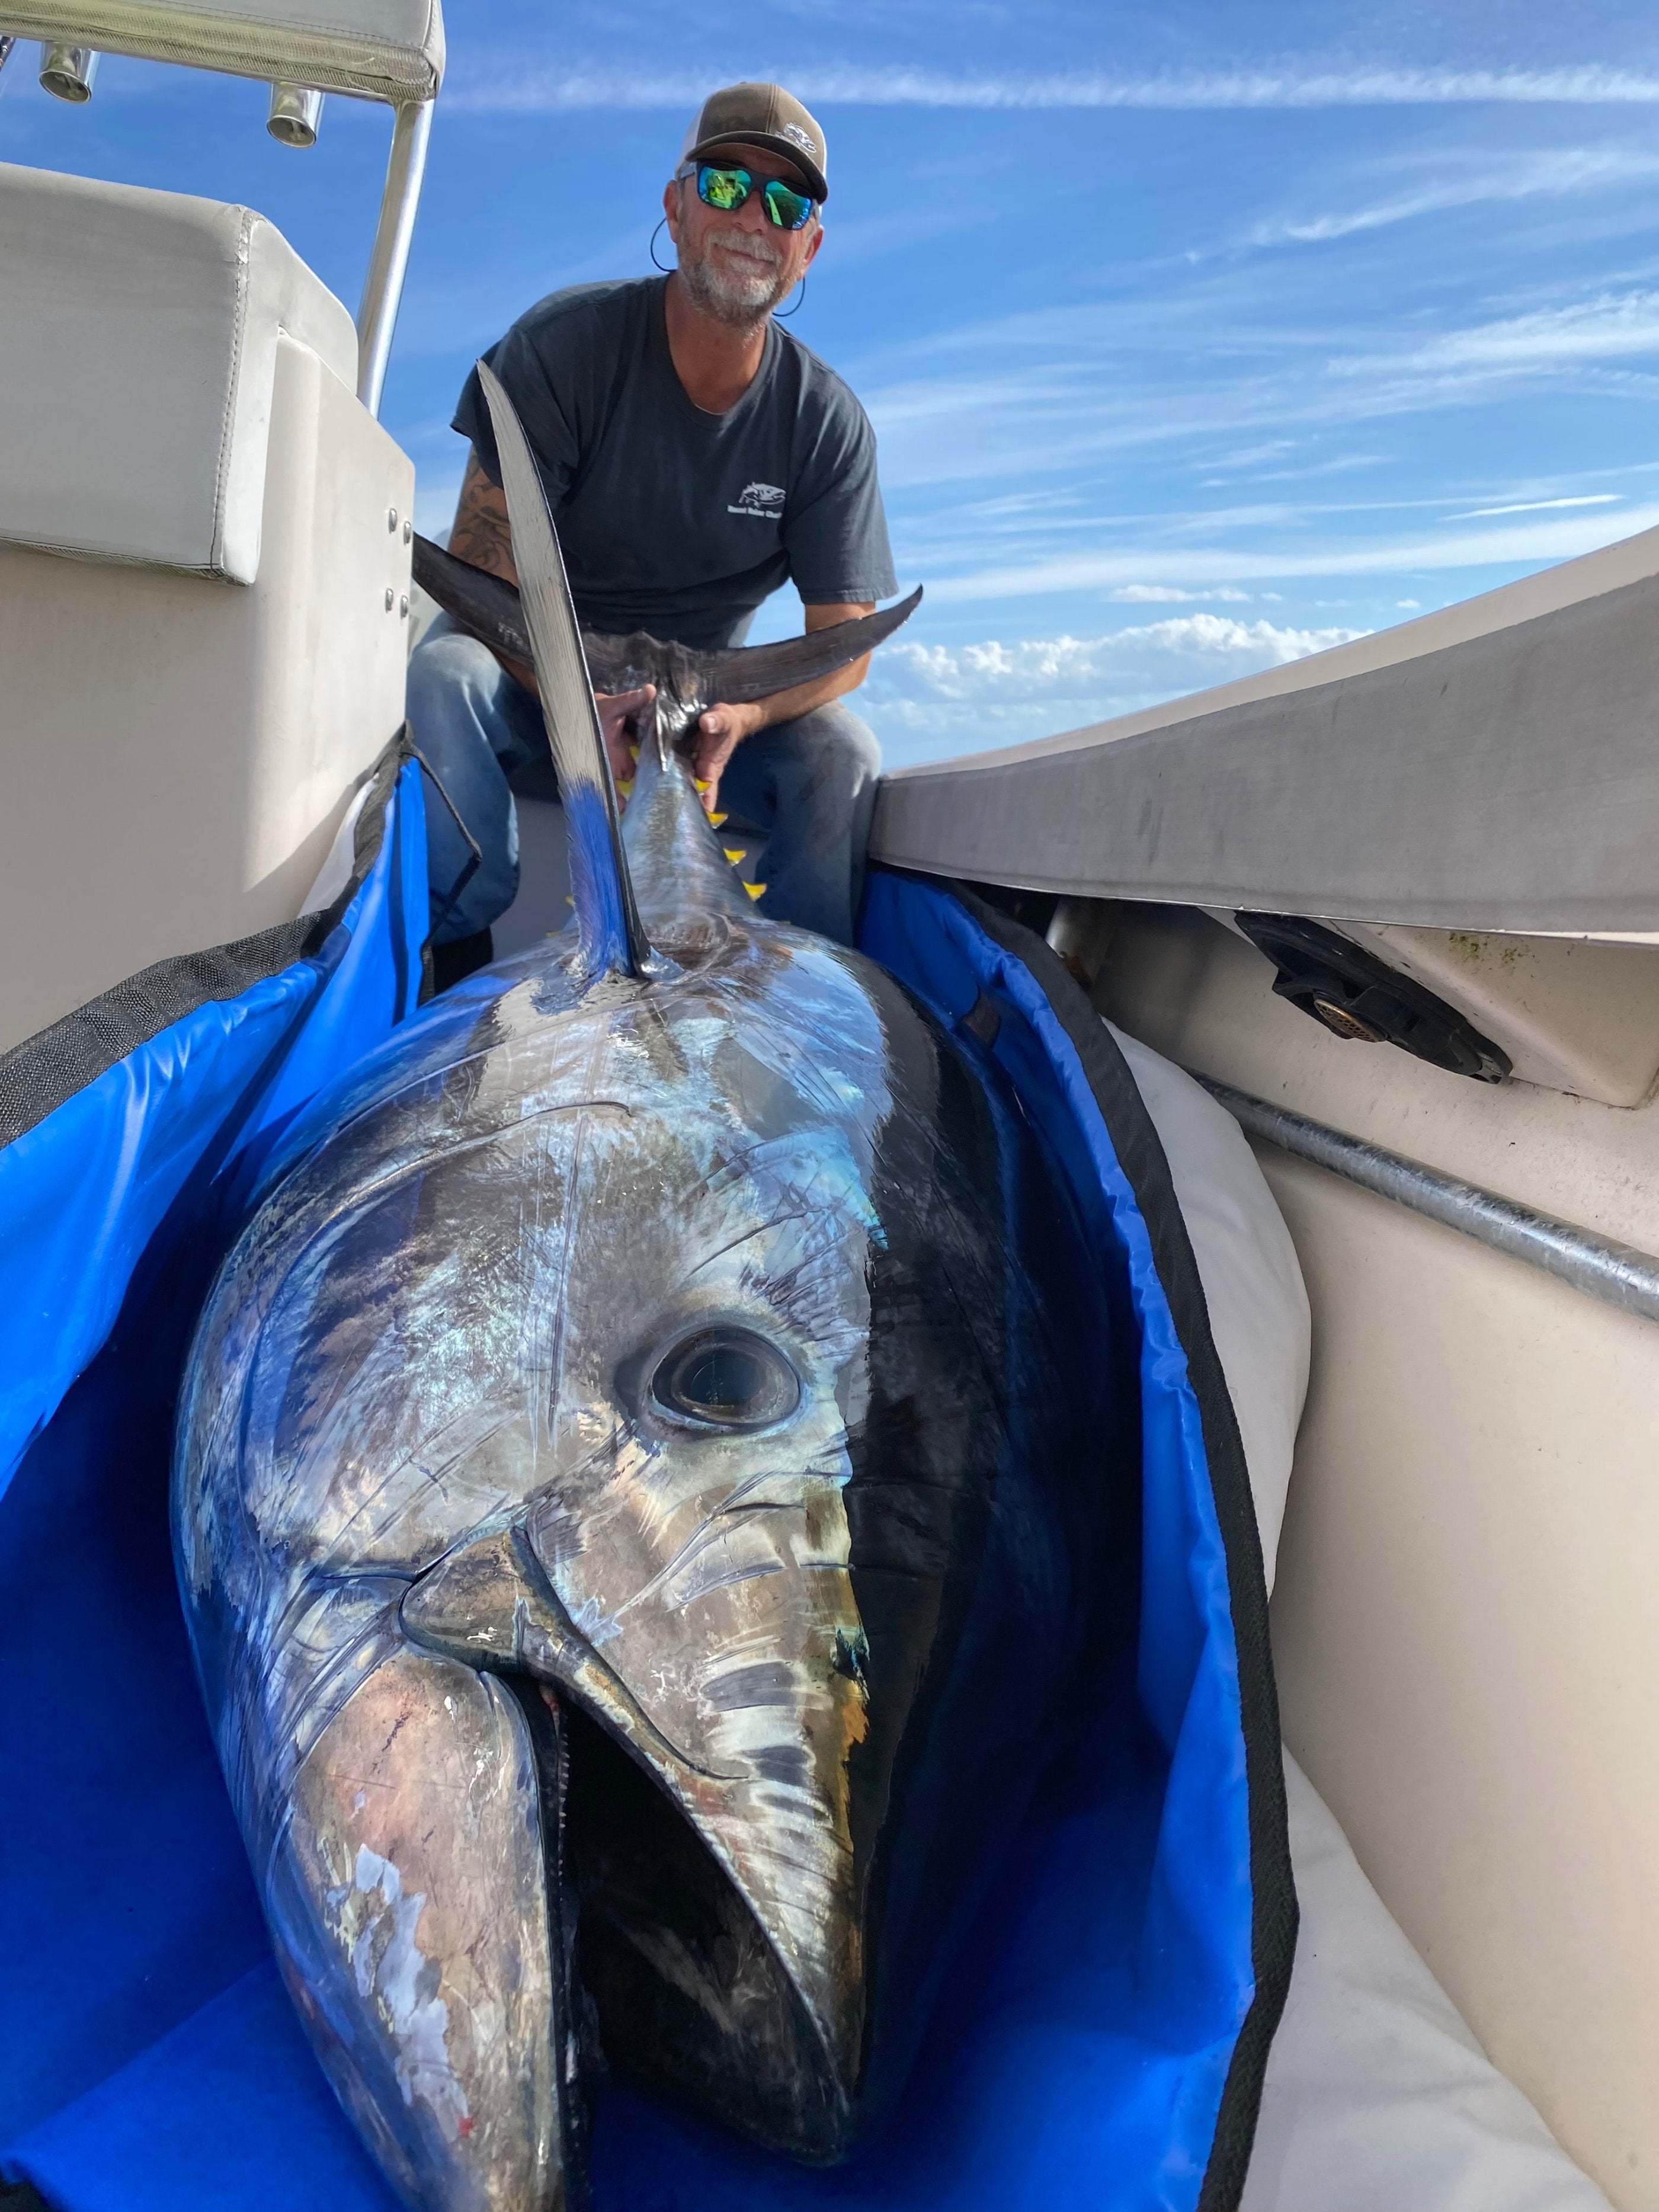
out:
{"label": "grey metal rail along the boat's inner right side", "polygon": [[1349,1183],[1409,1206],[1413,1214],[1427,1214],[1429,1221],[1460,1230],[1495,1252],[1526,1261],[1528,1267],[1542,1267],[1544,1274],[1555,1274],[1606,1305],[1659,1321],[1659,1259],[1652,1252],[1637,1252],[1635,1245],[1597,1237],[1595,1230],[1573,1221],[1557,1221],[1555,1214],[1542,1214],[1515,1199],[1500,1199],[1493,1190],[1422,1168],[1416,1159],[1385,1152],[1380,1144],[1365,1144],[1340,1128],[1327,1128],[1325,1121],[1310,1121],[1287,1106],[1270,1106],[1267,1099],[1234,1091],[1232,1084],[1210,1082],[1208,1075],[1197,1079],[1252,1137],[1265,1137],[1281,1152],[1312,1159],[1314,1166],[1329,1168]]}

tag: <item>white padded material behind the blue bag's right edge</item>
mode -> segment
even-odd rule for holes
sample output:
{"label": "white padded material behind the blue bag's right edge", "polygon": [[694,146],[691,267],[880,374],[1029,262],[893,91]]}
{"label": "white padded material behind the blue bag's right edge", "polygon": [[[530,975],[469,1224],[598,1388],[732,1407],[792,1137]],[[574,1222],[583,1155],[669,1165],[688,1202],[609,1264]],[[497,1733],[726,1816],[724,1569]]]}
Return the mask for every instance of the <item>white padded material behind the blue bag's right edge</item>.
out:
{"label": "white padded material behind the blue bag's right edge", "polygon": [[[1192,1239],[1272,1586],[1307,1391],[1296,1250],[1232,1115],[1113,1035]],[[1301,1936],[1241,2212],[1608,2212],[1464,2026],[1290,1754],[1285,1792]]]}

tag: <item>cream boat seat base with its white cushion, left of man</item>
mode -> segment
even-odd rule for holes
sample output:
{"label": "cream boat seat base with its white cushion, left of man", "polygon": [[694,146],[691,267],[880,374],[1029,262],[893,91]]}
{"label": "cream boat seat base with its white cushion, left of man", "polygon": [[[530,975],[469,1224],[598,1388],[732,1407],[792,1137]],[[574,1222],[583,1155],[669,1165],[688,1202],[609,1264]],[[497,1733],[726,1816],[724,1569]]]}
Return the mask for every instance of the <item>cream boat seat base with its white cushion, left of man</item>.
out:
{"label": "cream boat seat base with its white cushion, left of man", "polygon": [[299,914],[403,721],[414,467],[250,208],[0,166],[0,1048]]}

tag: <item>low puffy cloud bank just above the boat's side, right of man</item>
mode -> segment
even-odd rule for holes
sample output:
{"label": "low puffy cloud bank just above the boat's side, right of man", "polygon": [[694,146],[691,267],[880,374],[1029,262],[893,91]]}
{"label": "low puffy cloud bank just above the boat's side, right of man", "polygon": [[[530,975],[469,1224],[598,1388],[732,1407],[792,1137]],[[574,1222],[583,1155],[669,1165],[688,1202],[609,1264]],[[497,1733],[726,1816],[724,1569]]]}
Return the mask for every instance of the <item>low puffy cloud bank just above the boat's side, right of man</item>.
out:
{"label": "low puffy cloud bank just above the boat's side, right of man", "polygon": [[[982,646],[900,639],[887,648],[878,668],[883,690],[922,699],[1077,699],[1146,672],[1150,661],[1201,659],[1225,664],[1225,675],[1241,675],[1281,668],[1365,635],[1343,628],[1294,630],[1232,615],[1170,615],[1108,637],[1037,637],[1009,646],[998,639]],[[1214,681],[1214,668],[1203,670],[1201,679]]]}

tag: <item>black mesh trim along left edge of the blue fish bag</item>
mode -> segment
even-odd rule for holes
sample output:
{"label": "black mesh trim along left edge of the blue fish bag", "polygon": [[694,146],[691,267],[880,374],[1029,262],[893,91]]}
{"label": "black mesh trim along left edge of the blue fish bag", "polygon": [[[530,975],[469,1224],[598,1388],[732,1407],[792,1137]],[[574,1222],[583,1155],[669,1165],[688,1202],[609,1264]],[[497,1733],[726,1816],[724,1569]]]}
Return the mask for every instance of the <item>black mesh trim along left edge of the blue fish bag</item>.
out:
{"label": "black mesh trim along left edge of the blue fish bag", "polygon": [[117,1060],[126,1060],[208,1000],[239,998],[296,960],[316,958],[380,856],[392,787],[411,759],[409,732],[400,730],[367,776],[369,796],[352,838],[352,880],[321,914],[301,914],[294,922],[276,922],[274,929],[204,953],[157,960],[0,1053],[0,1146],[44,1121]]}

